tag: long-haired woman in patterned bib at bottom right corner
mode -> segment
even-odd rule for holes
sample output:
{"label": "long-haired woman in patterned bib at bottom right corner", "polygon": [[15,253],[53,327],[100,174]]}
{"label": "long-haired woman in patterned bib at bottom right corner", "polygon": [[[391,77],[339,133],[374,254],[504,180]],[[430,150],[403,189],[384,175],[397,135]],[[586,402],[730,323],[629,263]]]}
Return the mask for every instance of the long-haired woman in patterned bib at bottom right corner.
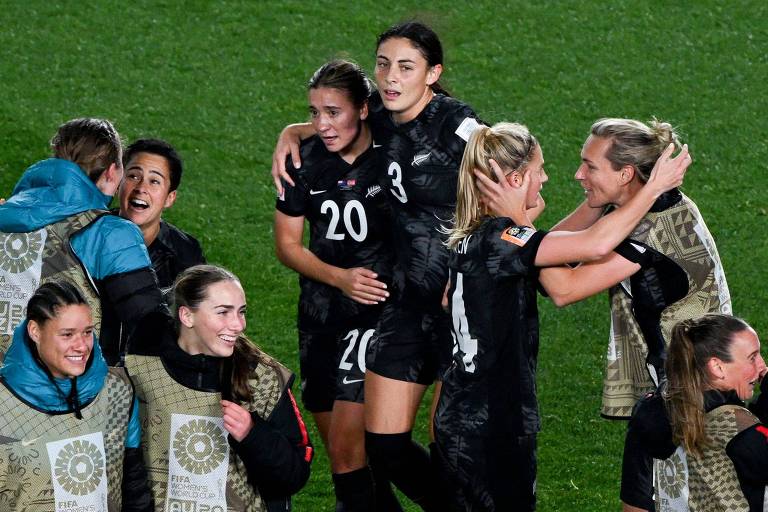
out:
{"label": "long-haired woman in patterned bib at bottom right corner", "polygon": [[765,510],[766,372],[757,333],[739,318],[709,314],[672,329],[668,380],[639,402],[627,434],[667,459],[654,478],[657,510]]}

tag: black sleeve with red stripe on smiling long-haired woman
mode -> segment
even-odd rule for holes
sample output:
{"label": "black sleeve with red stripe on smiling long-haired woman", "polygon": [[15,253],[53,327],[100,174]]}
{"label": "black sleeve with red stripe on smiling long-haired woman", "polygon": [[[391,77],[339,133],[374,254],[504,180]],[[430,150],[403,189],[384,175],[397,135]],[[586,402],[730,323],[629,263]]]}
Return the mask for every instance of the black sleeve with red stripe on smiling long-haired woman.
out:
{"label": "black sleeve with red stripe on smiling long-haired woman", "polygon": [[229,436],[248,479],[265,499],[297,493],[309,478],[313,447],[290,389],[268,420],[252,413],[253,427],[241,442]]}

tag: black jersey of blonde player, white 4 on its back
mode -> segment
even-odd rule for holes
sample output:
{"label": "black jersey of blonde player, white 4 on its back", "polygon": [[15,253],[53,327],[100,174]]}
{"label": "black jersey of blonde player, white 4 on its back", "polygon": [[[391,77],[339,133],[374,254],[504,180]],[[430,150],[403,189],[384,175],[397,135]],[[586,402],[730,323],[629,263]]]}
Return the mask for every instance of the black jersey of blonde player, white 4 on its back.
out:
{"label": "black jersey of blonde player, white 4 on its back", "polygon": [[546,231],[489,218],[450,252],[454,360],[436,424],[443,432],[527,435],[536,400],[536,253]]}

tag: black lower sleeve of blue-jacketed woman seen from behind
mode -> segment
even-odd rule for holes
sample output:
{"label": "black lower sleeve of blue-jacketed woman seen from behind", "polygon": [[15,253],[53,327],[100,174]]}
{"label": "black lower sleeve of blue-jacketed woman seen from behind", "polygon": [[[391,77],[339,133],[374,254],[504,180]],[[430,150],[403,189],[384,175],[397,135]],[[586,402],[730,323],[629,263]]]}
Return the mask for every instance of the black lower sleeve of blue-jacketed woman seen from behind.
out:
{"label": "black lower sleeve of blue-jacketed woman seen from behind", "polygon": [[[142,321],[168,315],[155,271],[144,267],[111,275],[97,284],[102,304],[100,343],[109,364],[116,364]],[[146,331],[146,329],[141,329]]]}

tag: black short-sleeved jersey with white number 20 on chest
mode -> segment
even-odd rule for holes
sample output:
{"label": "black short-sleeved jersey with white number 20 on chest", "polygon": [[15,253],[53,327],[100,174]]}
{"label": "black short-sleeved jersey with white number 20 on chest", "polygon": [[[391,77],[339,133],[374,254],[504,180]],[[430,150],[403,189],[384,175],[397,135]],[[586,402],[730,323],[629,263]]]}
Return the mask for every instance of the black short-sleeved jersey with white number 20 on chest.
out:
{"label": "black short-sleeved jersey with white number 20 on chest", "polygon": [[[349,164],[313,136],[301,145],[300,169],[287,161],[296,184],[285,187],[275,205],[292,217],[309,221],[309,250],[323,262],[365,267],[389,282],[392,275],[390,207],[378,182],[379,150],[367,149]],[[307,332],[335,330],[341,322],[369,308],[340,290],[301,276],[299,328]],[[369,312],[365,310],[365,312]]]}

